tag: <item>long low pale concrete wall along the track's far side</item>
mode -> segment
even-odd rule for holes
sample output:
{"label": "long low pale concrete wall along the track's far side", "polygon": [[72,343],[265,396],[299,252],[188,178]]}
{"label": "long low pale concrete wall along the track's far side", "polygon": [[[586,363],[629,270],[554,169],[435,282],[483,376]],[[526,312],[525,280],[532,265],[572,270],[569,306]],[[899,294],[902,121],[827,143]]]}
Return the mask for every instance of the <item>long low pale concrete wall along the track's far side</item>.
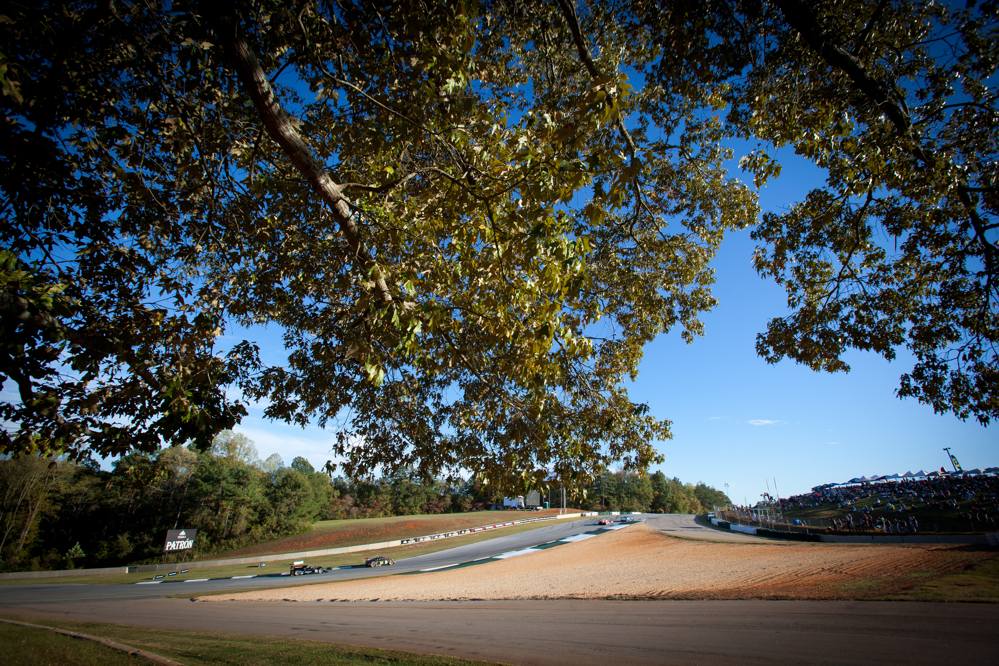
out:
{"label": "long low pale concrete wall along the track's far side", "polygon": [[577,512],[577,513],[564,513],[562,515],[538,516],[536,518],[521,518],[520,520],[500,522],[500,523],[495,523],[493,525],[485,525],[483,527],[470,527],[469,529],[460,529],[454,532],[444,532],[441,534],[429,534],[427,536],[417,536],[412,539],[383,541],[381,543],[365,543],[356,546],[326,548],[324,550],[305,550],[297,553],[279,553],[275,555],[258,555],[256,557],[216,559],[216,560],[206,560],[203,562],[176,562],[173,564],[143,564],[140,566],[127,566],[127,567],[118,566],[105,569],[67,569],[61,571],[16,571],[13,573],[0,573],[0,580],[16,580],[21,578],[57,578],[61,576],[88,576],[88,575],[99,576],[99,575],[115,574],[115,573],[136,573],[136,572],[143,573],[146,571],[177,571],[178,569],[202,569],[213,566],[229,566],[231,564],[254,564],[257,562],[275,562],[285,559],[305,559],[306,557],[321,557],[323,555],[342,555],[344,553],[361,552],[363,550],[379,550],[381,548],[394,548],[396,546],[409,545],[411,543],[420,543],[423,541],[445,539],[450,536],[461,536],[462,534],[471,534],[473,532],[481,532],[487,529],[496,529],[497,527],[506,527],[509,525],[519,525],[525,522],[535,522],[537,520],[576,518],[584,515],[587,514]]}

